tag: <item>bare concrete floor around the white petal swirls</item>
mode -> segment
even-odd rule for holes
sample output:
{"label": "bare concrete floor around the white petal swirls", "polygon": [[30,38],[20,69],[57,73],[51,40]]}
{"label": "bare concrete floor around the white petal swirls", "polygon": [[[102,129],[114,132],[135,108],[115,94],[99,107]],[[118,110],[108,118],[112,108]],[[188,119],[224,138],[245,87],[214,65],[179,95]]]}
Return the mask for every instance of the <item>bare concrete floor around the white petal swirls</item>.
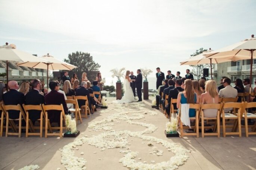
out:
{"label": "bare concrete floor around the white petal swirls", "polygon": [[[108,98],[108,101],[113,98]],[[151,108],[151,101],[144,101],[146,104],[145,109],[155,110]],[[110,105],[111,107],[111,105]],[[78,130],[84,135],[92,136],[101,132],[94,132],[87,128],[88,123],[92,121],[101,120],[111,113],[99,113],[95,112],[91,118],[83,119],[82,124],[78,124]],[[146,120],[146,121],[145,121]],[[167,119],[164,115],[158,111],[158,116],[145,115],[143,120],[138,120],[145,123],[151,123],[158,127],[157,131],[147,134],[160,139],[164,139],[170,142],[176,142],[191,152],[188,153],[189,160],[185,162],[179,169],[193,169],[193,170],[205,170],[205,169],[225,169],[225,170],[250,170],[256,169],[256,136],[250,136],[246,138],[239,138],[238,136],[228,136],[226,138],[220,137],[184,137],[184,138],[166,138],[164,135],[165,124]],[[141,126],[130,125],[127,123],[114,125],[114,129],[118,130],[142,130]],[[201,134],[200,134],[201,135]],[[0,169],[4,170],[18,170],[29,164],[37,164],[40,169],[53,169],[57,168],[65,169],[61,165],[61,149],[65,145],[74,141],[74,138],[61,138],[48,137],[29,137],[25,138],[25,134],[22,134],[21,138],[13,137],[1,137],[0,138]],[[80,135],[81,136],[81,135]],[[78,138],[80,137],[78,136]],[[132,140],[132,141],[130,141]],[[167,161],[173,155],[171,152],[166,151],[166,148],[161,145],[154,144],[159,149],[164,151],[163,156],[155,156],[148,153],[148,145],[143,144],[141,139],[129,138],[132,145],[129,147],[132,151],[138,151],[138,157],[142,158],[142,161],[154,160],[156,163],[161,161]],[[99,148],[91,145],[83,144],[79,147],[79,150],[75,152],[78,157],[86,159],[86,167],[88,170],[116,170],[127,169],[119,163],[119,159],[123,157],[119,151],[120,148],[106,149],[100,151]],[[84,155],[80,155],[83,151]],[[94,152],[97,152],[94,154]],[[101,158],[102,160],[99,160]]]}

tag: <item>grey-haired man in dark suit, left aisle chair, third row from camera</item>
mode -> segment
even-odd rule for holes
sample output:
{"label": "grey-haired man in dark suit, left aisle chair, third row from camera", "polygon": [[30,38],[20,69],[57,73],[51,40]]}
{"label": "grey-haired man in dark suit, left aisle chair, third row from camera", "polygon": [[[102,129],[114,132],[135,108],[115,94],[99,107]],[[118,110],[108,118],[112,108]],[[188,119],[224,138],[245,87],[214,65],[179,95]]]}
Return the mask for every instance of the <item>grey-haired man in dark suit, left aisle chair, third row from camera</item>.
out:
{"label": "grey-haired man in dark suit, left aisle chair, third row from camera", "polygon": [[[81,85],[79,88],[77,88],[75,95],[76,96],[87,96],[89,108],[90,108],[90,110],[92,109],[91,100],[90,100],[90,91],[87,89],[87,82],[85,82],[85,81],[81,82]],[[84,106],[84,104],[85,104],[85,100],[78,100],[79,108],[81,106]]]}

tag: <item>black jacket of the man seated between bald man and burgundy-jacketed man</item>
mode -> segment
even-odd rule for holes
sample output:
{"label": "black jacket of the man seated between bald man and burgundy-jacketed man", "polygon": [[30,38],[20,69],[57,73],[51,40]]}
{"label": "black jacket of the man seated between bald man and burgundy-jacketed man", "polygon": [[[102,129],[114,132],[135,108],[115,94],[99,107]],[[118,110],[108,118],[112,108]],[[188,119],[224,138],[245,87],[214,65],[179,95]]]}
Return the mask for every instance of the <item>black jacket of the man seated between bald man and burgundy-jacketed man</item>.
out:
{"label": "black jacket of the man seated between bald man and burgundy-jacketed man", "polygon": [[[41,95],[39,91],[32,89],[25,95],[25,103],[26,105],[39,105],[44,104],[44,95]],[[35,121],[40,119],[41,111],[38,110],[30,110],[29,119]]]}

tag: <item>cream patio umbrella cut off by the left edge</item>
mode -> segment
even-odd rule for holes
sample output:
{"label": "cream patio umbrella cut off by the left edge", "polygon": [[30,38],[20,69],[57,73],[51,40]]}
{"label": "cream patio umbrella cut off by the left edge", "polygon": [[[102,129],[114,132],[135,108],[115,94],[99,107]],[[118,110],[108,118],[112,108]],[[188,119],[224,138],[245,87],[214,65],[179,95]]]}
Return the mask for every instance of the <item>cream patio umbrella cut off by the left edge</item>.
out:
{"label": "cream patio umbrella cut off by the left edge", "polygon": [[8,84],[8,61],[15,62],[46,62],[46,60],[33,56],[32,54],[26,53],[24,51],[20,51],[16,49],[16,45],[10,44],[6,42],[6,45],[0,46],[0,60],[6,60],[6,77]]}

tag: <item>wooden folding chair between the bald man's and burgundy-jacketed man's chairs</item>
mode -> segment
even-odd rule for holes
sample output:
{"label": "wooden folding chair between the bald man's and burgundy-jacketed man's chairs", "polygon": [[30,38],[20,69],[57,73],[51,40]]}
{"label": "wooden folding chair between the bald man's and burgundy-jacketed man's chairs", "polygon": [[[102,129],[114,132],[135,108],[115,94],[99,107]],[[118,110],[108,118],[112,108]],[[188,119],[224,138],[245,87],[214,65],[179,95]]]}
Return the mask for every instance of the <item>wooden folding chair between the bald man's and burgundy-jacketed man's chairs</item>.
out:
{"label": "wooden folding chair between the bald man's and burgundy-jacketed man's chairs", "polygon": [[[26,113],[26,137],[28,137],[28,135],[39,135],[41,138],[43,136],[43,109],[42,109],[41,104],[40,105],[25,105],[25,104],[23,104],[23,108]],[[40,119],[37,119],[37,121],[40,122],[40,127],[34,126],[33,123],[31,122],[31,120],[29,119],[29,113],[28,113],[29,110],[41,111]],[[40,133],[28,132],[29,125],[32,126],[33,129],[39,129]]]}

